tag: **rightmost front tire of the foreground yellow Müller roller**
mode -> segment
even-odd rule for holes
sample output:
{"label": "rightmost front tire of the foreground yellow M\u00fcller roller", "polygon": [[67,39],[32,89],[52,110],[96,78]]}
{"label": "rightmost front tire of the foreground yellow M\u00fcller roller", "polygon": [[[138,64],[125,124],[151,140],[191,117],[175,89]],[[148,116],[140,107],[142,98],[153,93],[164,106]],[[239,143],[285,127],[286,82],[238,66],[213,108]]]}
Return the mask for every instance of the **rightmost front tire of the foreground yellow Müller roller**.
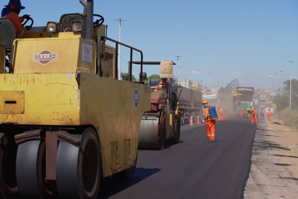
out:
{"label": "rightmost front tire of the foreground yellow M\u00fcller roller", "polygon": [[93,128],[84,131],[80,147],[59,143],[56,161],[59,198],[97,198],[100,176],[100,143]]}

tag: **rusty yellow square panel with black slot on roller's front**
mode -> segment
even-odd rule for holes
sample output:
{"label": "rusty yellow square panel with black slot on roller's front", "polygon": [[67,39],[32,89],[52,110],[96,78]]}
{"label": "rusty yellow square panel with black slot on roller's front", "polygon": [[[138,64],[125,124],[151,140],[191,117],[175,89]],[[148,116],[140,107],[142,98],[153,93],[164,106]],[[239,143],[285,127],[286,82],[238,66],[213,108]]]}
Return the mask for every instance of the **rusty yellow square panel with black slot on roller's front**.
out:
{"label": "rusty yellow square panel with black slot on roller's front", "polygon": [[0,91],[0,114],[24,114],[24,91]]}

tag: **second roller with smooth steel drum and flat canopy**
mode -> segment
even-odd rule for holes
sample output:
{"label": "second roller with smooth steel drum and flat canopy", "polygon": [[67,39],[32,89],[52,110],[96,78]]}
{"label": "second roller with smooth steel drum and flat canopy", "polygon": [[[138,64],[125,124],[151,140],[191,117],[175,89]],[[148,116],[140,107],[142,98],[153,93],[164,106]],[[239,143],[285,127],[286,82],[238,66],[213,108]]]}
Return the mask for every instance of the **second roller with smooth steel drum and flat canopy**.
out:
{"label": "second roller with smooth steel drum and flat canopy", "polygon": [[[170,86],[166,86],[168,89],[164,87],[151,91],[151,110],[143,114],[138,149],[162,150],[166,139],[174,144],[179,143],[181,114],[178,111],[178,101],[182,86],[175,87],[175,80],[172,79],[173,64],[175,64],[173,61],[145,63],[160,65],[160,77],[167,78]],[[155,81],[151,86],[154,89],[158,84],[159,82]]]}

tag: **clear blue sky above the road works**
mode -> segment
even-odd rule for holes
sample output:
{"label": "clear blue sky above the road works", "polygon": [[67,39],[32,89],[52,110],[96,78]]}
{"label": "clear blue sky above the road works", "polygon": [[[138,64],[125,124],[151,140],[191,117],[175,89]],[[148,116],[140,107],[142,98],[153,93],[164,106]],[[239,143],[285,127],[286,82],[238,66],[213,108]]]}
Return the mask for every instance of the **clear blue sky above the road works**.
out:
{"label": "clear blue sky above the road works", "polygon": [[[283,80],[289,79],[288,61],[295,61],[292,77],[298,77],[297,0],[94,1],[94,14],[104,16],[108,37],[119,38],[119,23],[113,19],[127,19],[121,41],[142,50],[144,61],[177,62],[175,55],[181,56],[181,79],[196,81],[199,70],[203,85],[209,86],[212,72],[215,86],[221,74],[221,83],[236,78],[241,86],[248,80],[249,85],[264,88],[268,77],[280,70]],[[26,9],[20,15],[30,14],[34,26],[59,21],[64,13],[83,12],[79,0],[23,0],[22,4]],[[122,47],[121,57],[128,60],[129,50]],[[124,60],[123,72],[128,68]],[[139,60],[136,53],[134,60]],[[159,74],[159,67],[145,66],[144,71]],[[133,70],[135,76],[138,73]]]}

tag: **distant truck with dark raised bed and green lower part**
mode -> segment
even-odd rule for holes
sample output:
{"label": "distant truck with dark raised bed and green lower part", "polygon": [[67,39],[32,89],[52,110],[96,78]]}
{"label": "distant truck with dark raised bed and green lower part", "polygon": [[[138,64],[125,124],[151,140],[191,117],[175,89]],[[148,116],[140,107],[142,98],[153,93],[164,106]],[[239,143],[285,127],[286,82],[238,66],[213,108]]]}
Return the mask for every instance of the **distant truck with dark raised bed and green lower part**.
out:
{"label": "distant truck with dark raised bed and green lower part", "polygon": [[[255,108],[253,105],[253,97],[254,97],[254,87],[237,87],[237,98],[240,101],[240,106],[244,108],[244,113],[247,114],[246,109],[252,106],[252,108]],[[243,113],[243,114],[244,114]]]}

